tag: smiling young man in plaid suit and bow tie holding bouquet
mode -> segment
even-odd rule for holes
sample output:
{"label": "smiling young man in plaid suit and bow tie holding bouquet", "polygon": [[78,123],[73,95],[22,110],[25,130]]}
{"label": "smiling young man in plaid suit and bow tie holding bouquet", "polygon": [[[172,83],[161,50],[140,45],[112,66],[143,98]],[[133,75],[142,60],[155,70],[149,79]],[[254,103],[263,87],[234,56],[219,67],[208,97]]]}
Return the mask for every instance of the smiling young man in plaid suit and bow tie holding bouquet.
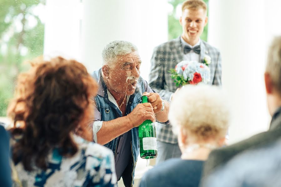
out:
{"label": "smiling young man in plaid suit and bow tie holding bouquet", "polygon": [[[218,49],[200,40],[204,26],[208,21],[207,5],[202,0],[187,0],[182,5],[180,24],[183,33],[176,39],[157,46],[151,58],[149,74],[150,87],[167,100],[172,100],[178,89],[168,72],[182,60],[210,60],[209,84],[221,85],[221,55]],[[188,104],[188,103],[186,103]],[[171,125],[157,123],[158,157],[160,163],[169,158],[180,157],[178,139],[172,132]]]}

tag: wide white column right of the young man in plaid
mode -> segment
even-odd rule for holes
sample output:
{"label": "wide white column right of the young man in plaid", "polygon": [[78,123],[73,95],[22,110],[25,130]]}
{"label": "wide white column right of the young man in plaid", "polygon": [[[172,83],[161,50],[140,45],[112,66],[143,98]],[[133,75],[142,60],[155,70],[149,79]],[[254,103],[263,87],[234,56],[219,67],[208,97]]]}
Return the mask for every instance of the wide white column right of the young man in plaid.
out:
{"label": "wide white column right of the young man in plaid", "polygon": [[209,0],[208,42],[222,55],[223,88],[229,93],[233,112],[231,143],[268,129],[264,2]]}

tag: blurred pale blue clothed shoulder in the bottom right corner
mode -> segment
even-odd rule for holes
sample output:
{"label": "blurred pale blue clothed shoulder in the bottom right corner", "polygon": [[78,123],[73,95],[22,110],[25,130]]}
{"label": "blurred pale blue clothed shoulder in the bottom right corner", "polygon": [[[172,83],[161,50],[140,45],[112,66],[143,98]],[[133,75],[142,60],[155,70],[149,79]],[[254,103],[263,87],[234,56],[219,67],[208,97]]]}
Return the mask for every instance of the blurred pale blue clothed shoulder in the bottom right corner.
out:
{"label": "blurred pale blue clothed shoulder in the bottom right corner", "polygon": [[281,138],[257,149],[245,150],[218,167],[204,187],[279,187],[281,186]]}

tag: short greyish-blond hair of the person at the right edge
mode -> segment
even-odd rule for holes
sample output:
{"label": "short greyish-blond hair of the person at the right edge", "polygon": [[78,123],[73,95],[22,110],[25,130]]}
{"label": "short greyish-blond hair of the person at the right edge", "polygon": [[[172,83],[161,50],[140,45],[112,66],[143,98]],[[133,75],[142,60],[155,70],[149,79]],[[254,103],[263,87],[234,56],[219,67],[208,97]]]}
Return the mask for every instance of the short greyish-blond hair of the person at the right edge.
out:
{"label": "short greyish-blond hair of the person at the right edge", "polygon": [[281,36],[275,37],[268,49],[265,71],[270,75],[274,88],[281,95]]}

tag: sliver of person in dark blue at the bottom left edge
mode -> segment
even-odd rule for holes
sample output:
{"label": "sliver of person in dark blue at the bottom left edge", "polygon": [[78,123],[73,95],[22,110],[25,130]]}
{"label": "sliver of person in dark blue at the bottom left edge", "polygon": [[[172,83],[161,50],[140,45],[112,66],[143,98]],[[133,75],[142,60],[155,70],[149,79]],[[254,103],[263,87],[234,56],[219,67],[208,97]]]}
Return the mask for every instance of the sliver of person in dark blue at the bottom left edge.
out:
{"label": "sliver of person in dark blue at the bottom left edge", "polygon": [[0,184],[2,186],[12,186],[9,148],[9,134],[4,128],[4,123],[0,122]]}

